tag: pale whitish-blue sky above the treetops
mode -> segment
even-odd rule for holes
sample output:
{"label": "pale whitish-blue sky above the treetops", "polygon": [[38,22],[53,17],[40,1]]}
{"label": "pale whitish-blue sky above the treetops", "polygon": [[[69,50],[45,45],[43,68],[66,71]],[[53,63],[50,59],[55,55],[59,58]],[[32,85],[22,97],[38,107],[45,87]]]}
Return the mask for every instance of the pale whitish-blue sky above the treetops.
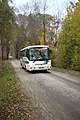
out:
{"label": "pale whitish-blue sky above the treetops", "polygon": [[[16,8],[19,8],[20,6],[25,5],[26,3],[30,3],[30,1],[38,2],[41,0],[13,0],[14,6]],[[42,0],[44,1],[44,0]],[[69,5],[69,2],[77,2],[77,0],[46,0],[48,9],[46,10],[46,13],[50,15],[58,15],[58,12],[61,13],[62,15],[66,14],[66,6]]]}

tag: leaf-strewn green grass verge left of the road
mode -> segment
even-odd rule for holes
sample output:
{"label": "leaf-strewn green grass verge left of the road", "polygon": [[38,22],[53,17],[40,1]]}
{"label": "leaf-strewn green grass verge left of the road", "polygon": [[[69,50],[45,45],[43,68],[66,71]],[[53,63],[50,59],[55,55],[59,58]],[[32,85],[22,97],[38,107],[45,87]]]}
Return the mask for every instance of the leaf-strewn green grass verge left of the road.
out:
{"label": "leaf-strewn green grass verge left of the road", "polygon": [[37,120],[37,114],[29,98],[21,92],[19,80],[10,62],[2,62],[0,64],[0,120]]}

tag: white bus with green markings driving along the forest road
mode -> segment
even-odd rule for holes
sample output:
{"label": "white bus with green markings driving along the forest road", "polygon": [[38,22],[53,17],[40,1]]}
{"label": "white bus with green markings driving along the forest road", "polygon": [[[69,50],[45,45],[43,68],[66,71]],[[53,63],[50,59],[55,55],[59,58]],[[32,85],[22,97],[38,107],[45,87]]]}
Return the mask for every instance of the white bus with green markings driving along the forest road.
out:
{"label": "white bus with green markings driving along the forest road", "polygon": [[20,50],[20,64],[28,71],[50,70],[50,50],[46,45],[27,46]]}

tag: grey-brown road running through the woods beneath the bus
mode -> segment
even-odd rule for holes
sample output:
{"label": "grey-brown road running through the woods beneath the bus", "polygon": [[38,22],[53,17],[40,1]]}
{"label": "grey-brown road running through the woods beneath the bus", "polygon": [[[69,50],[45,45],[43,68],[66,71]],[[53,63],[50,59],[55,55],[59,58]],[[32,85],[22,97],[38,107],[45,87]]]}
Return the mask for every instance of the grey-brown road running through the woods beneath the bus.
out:
{"label": "grey-brown road running through the woods beneath the bus", "polygon": [[52,70],[31,73],[18,60],[11,63],[24,92],[40,108],[41,120],[80,120],[80,78]]}

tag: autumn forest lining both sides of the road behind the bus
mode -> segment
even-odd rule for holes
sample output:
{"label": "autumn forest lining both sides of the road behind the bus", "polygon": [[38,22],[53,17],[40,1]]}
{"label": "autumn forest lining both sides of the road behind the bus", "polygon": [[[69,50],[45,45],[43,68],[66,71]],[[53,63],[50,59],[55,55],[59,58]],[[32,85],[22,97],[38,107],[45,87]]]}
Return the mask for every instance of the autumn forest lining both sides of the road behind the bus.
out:
{"label": "autumn forest lining both sides of the road behind the bus", "polygon": [[19,59],[20,49],[28,45],[48,45],[53,67],[80,71],[80,0],[69,3],[62,19],[46,13],[46,2],[34,2],[33,8],[27,3],[22,13],[10,3],[0,0],[0,60],[9,54]]}

